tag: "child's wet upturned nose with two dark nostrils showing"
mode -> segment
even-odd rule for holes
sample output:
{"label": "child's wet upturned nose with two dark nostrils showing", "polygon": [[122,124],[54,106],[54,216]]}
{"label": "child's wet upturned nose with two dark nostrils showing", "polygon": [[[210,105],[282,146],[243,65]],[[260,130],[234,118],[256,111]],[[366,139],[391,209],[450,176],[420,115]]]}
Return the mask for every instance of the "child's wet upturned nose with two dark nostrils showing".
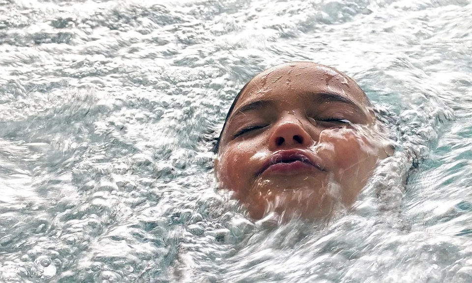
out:
{"label": "child's wet upturned nose with two dark nostrils showing", "polygon": [[291,119],[282,121],[273,128],[269,139],[269,150],[308,147],[313,143],[312,137],[301,123],[296,119]]}

